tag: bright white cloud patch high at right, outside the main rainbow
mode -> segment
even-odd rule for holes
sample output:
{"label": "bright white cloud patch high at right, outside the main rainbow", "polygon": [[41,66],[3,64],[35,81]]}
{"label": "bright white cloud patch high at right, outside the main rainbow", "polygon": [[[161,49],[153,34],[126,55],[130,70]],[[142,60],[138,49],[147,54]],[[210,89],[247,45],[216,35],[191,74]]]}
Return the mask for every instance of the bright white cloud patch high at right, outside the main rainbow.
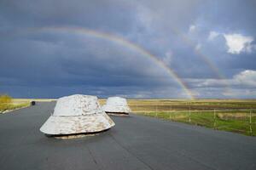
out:
{"label": "bright white cloud patch high at right, outside the main rainbow", "polygon": [[228,53],[240,54],[241,52],[252,52],[253,37],[242,36],[241,34],[224,34]]}

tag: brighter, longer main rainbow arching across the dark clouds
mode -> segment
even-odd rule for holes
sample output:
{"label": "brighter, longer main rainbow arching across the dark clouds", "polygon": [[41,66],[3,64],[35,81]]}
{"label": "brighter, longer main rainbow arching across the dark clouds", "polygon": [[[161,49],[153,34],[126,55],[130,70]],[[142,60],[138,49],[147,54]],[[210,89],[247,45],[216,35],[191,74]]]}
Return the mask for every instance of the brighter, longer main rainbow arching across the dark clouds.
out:
{"label": "brighter, longer main rainbow arching across the dark clouds", "polygon": [[63,32],[77,33],[77,34],[82,34],[86,36],[102,38],[110,42],[115,42],[125,48],[130,48],[131,50],[134,50],[137,53],[143,54],[143,56],[148,57],[149,59],[152,59],[154,63],[159,65],[161,68],[165,69],[165,71],[180,85],[180,87],[183,88],[184,92],[189,96],[189,98],[195,99],[194,95],[189,90],[186,83],[183,82],[183,80],[180,77],[178,77],[177,74],[169,66],[166,65],[166,63],[164,63],[154,54],[151,54],[150,52],[148,52],[146,49],[140,47],[134,42],[130,42],[124,39],[123,37],[118,37],[112,34],[108,34],[106,32],[90,30],[84,27],[83,28],[82,27],[42,27],[42,28],[32,29],[31,31],[63,31]]}

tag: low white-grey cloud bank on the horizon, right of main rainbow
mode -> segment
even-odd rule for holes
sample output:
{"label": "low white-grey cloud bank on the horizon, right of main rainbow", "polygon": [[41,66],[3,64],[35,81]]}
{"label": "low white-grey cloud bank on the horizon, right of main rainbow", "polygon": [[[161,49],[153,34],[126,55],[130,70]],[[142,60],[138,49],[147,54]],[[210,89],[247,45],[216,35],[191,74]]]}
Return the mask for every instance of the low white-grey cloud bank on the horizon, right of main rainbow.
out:
{"label": "low white-grey cloud bank on the horizon, right of main rainbow", "polygon": [[245,70],[230,79],[196,79],[186,78],[191,89],[199,94],[197,97],[239,97],[255,98],[256,71]]}

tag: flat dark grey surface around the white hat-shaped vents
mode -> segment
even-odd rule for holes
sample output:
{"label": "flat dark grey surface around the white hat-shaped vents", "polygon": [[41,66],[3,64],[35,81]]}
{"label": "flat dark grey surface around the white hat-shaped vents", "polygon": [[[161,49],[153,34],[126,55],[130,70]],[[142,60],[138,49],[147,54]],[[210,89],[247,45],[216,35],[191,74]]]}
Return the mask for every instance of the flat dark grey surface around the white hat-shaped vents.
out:
{"label": "flat dark grey surface around the white hat-shaped vents", "polygon": [[144,116],[85,139],[49,139],[39,127],[55,103],[0,115],[0,169],[256,169],[256,138]]}

